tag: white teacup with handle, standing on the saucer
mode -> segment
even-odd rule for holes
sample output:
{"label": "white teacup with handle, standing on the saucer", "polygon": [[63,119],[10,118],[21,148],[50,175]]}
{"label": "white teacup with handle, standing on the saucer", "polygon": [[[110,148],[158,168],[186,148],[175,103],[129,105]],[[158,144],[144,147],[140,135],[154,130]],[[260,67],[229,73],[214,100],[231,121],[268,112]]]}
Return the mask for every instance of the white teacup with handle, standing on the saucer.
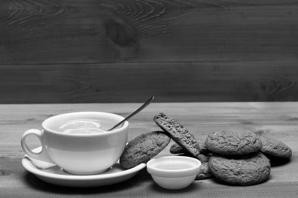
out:
{"label": "white teacup with handle, standing on the saucer", "polygon": [[[98,120],[103,129],[110,129],[124,117],[105,112],[74,112],[60,114],[46,119],[42,130],[30,129],[21,139],[24,152],[38,160],[55,163],[64,171],[75,175],[92,175],[107,171],[117,162],[127,143],[129,123],[103,133],[75,134],[59,132],[55,127],[59,123],[71,120]],[[26,138],[36,136],[42,145],[42,151],[31,151]]]}

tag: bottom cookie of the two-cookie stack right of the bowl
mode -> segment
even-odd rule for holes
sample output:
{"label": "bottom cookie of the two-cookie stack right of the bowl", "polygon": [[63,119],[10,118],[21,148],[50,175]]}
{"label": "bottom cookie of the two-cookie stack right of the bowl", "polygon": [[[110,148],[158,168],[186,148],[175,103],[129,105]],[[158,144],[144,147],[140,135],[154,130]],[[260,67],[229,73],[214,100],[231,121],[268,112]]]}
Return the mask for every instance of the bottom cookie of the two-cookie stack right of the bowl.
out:
{"label": "bottom cookie of the two-cookie stack right of the bowl", "polygon": [[244,155],[220,155],[209,158],[209,169],[218,179],[241,186],[259,184],[270,175],[269,159],[261,152]]}

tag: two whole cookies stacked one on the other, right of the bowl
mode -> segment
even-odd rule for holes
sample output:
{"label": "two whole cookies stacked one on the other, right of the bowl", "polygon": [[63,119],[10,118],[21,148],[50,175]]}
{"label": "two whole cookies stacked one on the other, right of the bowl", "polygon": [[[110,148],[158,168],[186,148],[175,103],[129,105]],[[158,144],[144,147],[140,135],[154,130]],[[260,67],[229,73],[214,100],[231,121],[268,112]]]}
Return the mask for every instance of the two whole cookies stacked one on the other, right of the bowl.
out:
{"label": "two whole cookies stacked one on the other, right of the bowl", "polygon": [[268,179],[269,159],[259,150],[262,141],[251,131],[224,129],[208,135],[205,145],[213,154],[211,173],[227,183],[248,186]]}

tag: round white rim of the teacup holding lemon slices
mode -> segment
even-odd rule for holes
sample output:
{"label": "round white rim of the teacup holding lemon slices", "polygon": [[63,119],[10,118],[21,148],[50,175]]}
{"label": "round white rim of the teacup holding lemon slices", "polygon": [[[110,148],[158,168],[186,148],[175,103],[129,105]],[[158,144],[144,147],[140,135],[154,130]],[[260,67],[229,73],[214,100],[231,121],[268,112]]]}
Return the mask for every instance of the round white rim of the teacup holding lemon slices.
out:
{"label": "round white rim of the teacup holding lemon slices", "polygon": [[[50,121],[52,121],[53,119],[57,119],[58,117],[61,116],[67,116],[67,115],[74,115],[74,114],[106,114],[106,115],[112,115],[115,117],[119,117],[121,120],[124,119],[124,117],[122,117],[121,115],[117,115],[114,113],[108,113],[108,112],[100,112],[100,111],[76,111],[76,112],[70,112],[70,113],[62,113],[62,114],[58,114],[58,115],[54,115],[52,117],[47,118],[46,120],[44,120],[42,122],[42,129],[44,131],[56,134],[56,135],[61,135],[61,136],[70,136],[70,137],[92,137],[92,136],[105,136],[105,135],[111,135],[111,134],[115,134],[115,133],[119,133],[120,131],[126,130],[129,126],[129,122],[126,121],[123,123],[123,125],[117,129],[114,129],[112,131],[108,131],[107,133],[98,133],[98,134],[73,134],[73,133],[61,133],[55,130],[50,129],[49,127],[46,126],[46,124]],[[119,121],[120,122],[120,121]]]}

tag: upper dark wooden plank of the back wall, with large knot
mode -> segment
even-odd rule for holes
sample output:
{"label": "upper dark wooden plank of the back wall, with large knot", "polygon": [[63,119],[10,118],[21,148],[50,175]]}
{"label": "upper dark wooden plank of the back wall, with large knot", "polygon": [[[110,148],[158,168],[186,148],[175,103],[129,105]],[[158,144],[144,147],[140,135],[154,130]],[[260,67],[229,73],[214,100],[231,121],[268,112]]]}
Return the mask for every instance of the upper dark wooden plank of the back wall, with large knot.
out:
{"label": "upper dark wooden plank of the back wall, with large knot", "polygon": [[0,64],[297,60],[296,0],[0,0]]}

